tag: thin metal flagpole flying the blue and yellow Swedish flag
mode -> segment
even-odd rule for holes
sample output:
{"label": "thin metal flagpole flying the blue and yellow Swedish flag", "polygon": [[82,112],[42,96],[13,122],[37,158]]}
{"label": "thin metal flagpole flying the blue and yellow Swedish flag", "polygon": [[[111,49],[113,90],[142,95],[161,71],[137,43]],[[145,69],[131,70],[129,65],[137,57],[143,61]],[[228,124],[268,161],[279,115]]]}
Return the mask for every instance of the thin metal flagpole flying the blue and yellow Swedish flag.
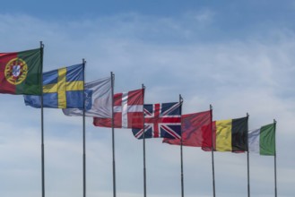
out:
{"label": "thin metal flagpole flying the blue and yellow Swedish flag", "polygon": [[82,59],[83,65],[83,197],[86,197],[86,141],[85,141],[85,64],[86,61]]}

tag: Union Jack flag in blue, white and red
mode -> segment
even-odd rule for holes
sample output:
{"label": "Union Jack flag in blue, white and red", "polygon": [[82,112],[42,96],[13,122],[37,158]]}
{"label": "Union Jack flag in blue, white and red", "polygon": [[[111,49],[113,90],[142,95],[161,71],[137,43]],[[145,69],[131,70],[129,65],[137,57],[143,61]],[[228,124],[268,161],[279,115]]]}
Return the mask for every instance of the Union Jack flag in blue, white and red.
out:
{"label": "Union Jack flag in blue, white and red", "polygon": [[[179,139],[180,107],[180,103],[144,105],[144,138]],[[137,139],[143,139],[143,129],[133,129],[132,132]]]}

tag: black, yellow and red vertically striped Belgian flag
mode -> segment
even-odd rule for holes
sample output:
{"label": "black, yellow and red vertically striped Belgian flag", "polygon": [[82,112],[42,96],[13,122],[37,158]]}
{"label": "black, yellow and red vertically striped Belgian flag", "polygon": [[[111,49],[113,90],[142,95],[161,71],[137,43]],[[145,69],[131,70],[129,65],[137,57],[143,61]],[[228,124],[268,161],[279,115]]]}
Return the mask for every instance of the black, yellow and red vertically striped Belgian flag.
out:
{"label": "black, yellow and red vertically striped Belgian flag", "polygon": [[[203,150],[212,150],[202,148]],[[247,151],[247,116],[213,122],[213,150]]]}

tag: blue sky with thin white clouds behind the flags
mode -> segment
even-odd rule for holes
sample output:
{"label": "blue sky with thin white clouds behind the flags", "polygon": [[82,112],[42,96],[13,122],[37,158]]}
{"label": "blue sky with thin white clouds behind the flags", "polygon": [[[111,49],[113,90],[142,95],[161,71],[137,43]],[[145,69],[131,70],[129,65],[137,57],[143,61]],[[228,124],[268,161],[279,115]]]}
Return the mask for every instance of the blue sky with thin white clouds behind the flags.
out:
{"label": "blue sky with thin white clouds behind the flags", "polygon": [[[278,196],[295,193],[294,1],[6,1],[0,51],[45,44],[44,71],[87,61],[86,81],[115,73],[115,91],[146,86],[147,103],[213,105],[216,120],[249,113],[277,124]],[[40,112],[1,95],[0,194],[41,195]],[[82,195],[82,119],[45,109],[46,196]],[[112,196],[111,132],[86,126],[87,196]],[[115,131],[117,196],[143,196],[143,144]],[[179,147],[146,143],[147,193],[180,195]],[[246,154],[216,152],[216,194],[247,196]],[[185,195],[213,196],[211,154],[184,149]],[[250,155],[251,195],[273,196],[273,157]]]}

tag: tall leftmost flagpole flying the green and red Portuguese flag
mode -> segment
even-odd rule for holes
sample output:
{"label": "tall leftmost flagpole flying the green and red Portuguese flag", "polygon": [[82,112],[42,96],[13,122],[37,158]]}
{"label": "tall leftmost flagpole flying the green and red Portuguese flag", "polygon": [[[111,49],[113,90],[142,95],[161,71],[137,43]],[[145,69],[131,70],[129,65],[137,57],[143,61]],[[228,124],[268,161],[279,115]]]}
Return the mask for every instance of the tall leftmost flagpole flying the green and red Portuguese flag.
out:
{"label": "tall leftmost flagpole flying the green and red Portuguese flag", "polygon": [[40,41],[41,50],[41,172],[42,172],[42,197],[45,197],[45,173],[44,173],[44,111],[43,111],[43,50],[44,45]]}

